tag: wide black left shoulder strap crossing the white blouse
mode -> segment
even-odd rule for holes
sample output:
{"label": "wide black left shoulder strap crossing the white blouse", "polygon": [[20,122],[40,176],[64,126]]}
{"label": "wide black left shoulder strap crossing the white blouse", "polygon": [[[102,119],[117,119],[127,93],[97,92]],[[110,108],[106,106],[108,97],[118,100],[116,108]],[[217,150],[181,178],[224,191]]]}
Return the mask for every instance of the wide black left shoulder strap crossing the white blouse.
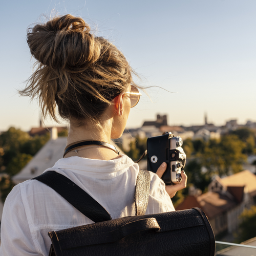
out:
{"label": "wide black left shoulder strap crossing the white blouse", "polygon": [[33,178],[54,189],[60,196],[94,222],[112,220],[109,212],[69,178],[48,171]]}

